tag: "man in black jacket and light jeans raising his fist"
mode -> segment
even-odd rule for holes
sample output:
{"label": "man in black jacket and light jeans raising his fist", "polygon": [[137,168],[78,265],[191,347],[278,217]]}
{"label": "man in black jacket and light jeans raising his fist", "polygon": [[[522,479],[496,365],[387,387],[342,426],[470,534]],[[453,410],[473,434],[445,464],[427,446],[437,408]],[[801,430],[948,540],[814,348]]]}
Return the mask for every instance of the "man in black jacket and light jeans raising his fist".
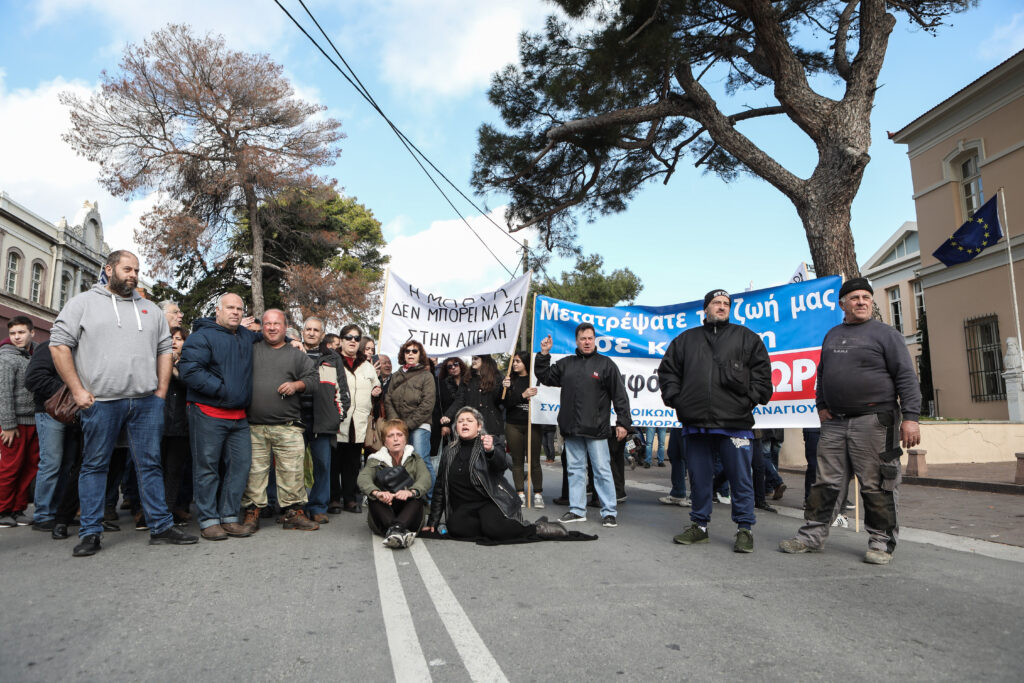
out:
{"label": "man in black jacket and light jeans raising his fist", "polygon": [[617,526],[615,484],[611,475],[608,436],[609,411],[615,405],[615,438],[626,438],[633,424],[630,399],[618,367],[597,352],[594,326],[582,323],[575,330],[577,352],[551,365],[553,342],[548,335],[541,342],[534,372],[541,384],[561,387],[558,427],[565,439],[569,472],[569,511],[562,522],[587,521],[587,458],[594,469],[594,490],[601,501],[601,523]]}

